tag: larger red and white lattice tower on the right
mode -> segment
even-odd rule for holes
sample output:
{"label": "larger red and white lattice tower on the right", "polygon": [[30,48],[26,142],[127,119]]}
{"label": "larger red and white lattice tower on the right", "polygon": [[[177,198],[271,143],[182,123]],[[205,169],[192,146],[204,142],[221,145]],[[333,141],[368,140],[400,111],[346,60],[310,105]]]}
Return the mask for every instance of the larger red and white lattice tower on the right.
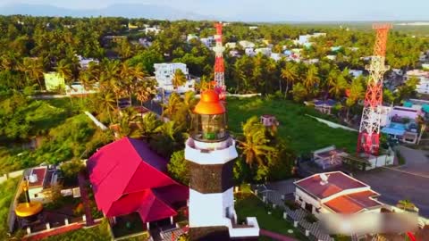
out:
{"label": "larger red and white lattice tower on the right", "polygon": [[366,66],[366,70],[369,71],[369,79],[357,138],[357,153],[378,155],[383,109],[383,75],[389,70],[389,67],[384,65],[384,61],[391,24],[374,24],[373,29],[376,29],[377,34],[374,56],[372,56],[371,63]]}

